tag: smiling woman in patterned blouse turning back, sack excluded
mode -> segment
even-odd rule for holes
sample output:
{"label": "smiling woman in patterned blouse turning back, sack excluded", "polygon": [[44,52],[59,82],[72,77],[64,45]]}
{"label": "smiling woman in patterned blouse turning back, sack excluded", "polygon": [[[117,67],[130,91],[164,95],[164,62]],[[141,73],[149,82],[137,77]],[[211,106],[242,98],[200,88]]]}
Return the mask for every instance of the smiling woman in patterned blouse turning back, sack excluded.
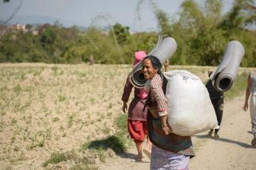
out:
{"label": "smiling woman in patterned blouse turning back, sack excluded", "polygon": [[142,73],[148,79],[148,136],[153,143],[151,170],[187,170],[190,157],[195,156],[190,136],[176,135],[167,123],[166,79],[162,75],[162,64],[154,56],[145,57]]}

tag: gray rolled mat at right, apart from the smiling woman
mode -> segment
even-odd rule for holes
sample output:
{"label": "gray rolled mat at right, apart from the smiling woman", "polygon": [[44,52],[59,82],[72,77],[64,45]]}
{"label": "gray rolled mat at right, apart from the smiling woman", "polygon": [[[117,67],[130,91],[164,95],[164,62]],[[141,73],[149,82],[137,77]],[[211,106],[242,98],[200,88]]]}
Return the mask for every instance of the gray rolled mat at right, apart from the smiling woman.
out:
{"label": "gray rolled mat at right, apart from the smiling woman", "polygon": [[244,48],[238,40],[232,40],[227,44],[220,65],[210,76],[217,91],[228,91],[232,87],[243,55]]}

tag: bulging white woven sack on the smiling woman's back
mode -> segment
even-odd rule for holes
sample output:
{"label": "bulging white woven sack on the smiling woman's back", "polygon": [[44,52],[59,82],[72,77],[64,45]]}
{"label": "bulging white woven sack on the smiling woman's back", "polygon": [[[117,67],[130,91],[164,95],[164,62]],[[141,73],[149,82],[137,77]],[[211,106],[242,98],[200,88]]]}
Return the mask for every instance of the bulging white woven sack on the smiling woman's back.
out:
{"label": "bulging white woven sack on the smiling woman's back", "polygon": [[167,121],[174,133],[190,136],[218,128],[215,110],[201,79],[183,70],[167,71],[164,76],[167,79]]}

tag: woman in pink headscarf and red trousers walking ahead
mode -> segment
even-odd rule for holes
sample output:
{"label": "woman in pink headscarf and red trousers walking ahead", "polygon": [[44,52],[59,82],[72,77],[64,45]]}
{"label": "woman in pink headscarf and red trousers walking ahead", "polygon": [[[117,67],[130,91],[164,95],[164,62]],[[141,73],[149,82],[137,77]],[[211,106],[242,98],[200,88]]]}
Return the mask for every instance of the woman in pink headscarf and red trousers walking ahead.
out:
{"label": "woman in pink headscarf and red trousers walking ahead", "polygon": [[[135,52],[134,65],[136,65],[136,63],[139,63],[139,61],[142,60],[144,57],[146,57],[146,53],[144,51]],[[125,88],[122,93],[123,112],[127,110],[127,102],[132,88],[134,88],[134,86],[131,84],[130,79],[127,78]],[[145,138],[148,136],[148,110],[143,110],[147,97],[148,92],[145,91],[144,88],[134,88],[134,99],[132,99],[131,104],[128,108],[128,132],[131,138],[134,140],[134,143],[136,144],[136,149],[138,151],[138,155],[136,157],[137,161],[142,161],[142,144],[143,141],[145,141]],[[147,146],[145,147],[145,149],[143,149],[143,151],[146,152],[148,156],[150,156],[151,141],[148,140]]]}

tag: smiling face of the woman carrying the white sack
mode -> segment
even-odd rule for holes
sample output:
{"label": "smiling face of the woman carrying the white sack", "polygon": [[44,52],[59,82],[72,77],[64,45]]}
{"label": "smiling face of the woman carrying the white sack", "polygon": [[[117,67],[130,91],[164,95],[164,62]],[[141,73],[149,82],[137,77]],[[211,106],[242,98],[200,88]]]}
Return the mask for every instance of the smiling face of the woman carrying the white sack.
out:
{"label": "smiling face of the woman carrying the white sack", "polygon": [[143,60],[142,73],[144,74],[145,79],[152,79],[157,73],[157,69],[153,67],[150,59]]}

